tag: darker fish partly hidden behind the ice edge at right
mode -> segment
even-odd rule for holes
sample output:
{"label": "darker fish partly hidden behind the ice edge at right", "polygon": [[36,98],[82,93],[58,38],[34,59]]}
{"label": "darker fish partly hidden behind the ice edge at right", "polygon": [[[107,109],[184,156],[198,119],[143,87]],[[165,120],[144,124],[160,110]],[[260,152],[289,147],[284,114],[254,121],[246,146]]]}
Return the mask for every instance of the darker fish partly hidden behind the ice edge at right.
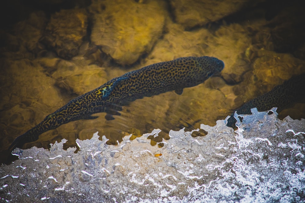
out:
{"label": "darker fish partly hidden behind the ice edge at right", "polygon": [[[277,107],[277,112],[291,107],[305,97],[305,74],[297,75],[285,81],[282,85],[274,87],[270,92],[265,93],[242,105],[236,110],[237,114],[252,114],[251,109],[256,107],[258,111],[267,111]],[[228,118],[228,127],[235,126],[234,113]]]}

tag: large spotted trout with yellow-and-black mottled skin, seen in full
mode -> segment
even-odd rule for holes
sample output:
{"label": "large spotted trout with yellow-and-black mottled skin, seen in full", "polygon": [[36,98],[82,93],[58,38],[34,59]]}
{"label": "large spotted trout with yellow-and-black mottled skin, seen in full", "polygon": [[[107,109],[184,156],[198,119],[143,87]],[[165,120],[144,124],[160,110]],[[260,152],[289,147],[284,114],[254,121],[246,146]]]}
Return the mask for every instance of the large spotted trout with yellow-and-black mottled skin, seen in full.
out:
{"label": "large spotted trout with yellow-and-black mottled skin, seen in full", "polygon": [[92,114],[106,112],[106,119],[120,115],[128,102],[168,91],[181,94],[183,88],[196,86],[211,75],[221,72],[224,63],[214,57],[182,57],[145,66],[113,78],[104,85],[85,93],[59,108],[34,128],[17,137],[9,147],[21,148],[24,143],[33,142],[42,133],[62,124],[80,119],[94,119]]}

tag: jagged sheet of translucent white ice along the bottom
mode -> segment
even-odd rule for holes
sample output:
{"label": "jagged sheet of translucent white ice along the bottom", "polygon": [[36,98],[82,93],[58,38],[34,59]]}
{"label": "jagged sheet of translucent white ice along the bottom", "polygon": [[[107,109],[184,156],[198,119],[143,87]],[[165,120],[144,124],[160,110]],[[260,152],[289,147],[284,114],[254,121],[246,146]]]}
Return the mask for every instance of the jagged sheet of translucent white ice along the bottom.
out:
{"label": "jagged sheet of translucent white ice along the bottom", "polygon": [[[278,120],[275,109],[245,115],[239,129],[224,120],[205,137],[170,131],[164,147],[147,137],[117,146],[77,139],[80,150],[14,150],[1,166],[1,200],[9,202],[305,202],[305,120]],[[274,112],[269,115],[270,112]],[[268,114],[269,113],[269,114]]]}

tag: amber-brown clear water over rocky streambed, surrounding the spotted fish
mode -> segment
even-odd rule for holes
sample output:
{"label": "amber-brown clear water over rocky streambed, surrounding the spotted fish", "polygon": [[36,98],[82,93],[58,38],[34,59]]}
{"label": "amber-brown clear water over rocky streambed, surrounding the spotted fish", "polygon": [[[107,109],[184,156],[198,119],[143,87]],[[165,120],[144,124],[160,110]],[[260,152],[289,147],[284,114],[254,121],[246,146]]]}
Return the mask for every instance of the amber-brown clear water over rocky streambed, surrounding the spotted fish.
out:
{"label": "amber-brown clear water over rocky streambed, surrounding the spotted fish", "polygon": [[[297,2],[281,1],[277,5],[286,9],[277,11],[270,2],[169,2],[77,1],[76,8],[50,2],[50,8],[35,5],[20,14],[27,18],[1,28],[0,149],[76,96],[156,62],[207,55],[223,60],[225,68],[221,76],[182,95],[168,92],[136,100],[113,121],[101,113],[95,120],[48,131],[24,148],[48,148],[66,138],[66,149],[96,131],[116,144],[131,133],[134,139],[160,128],[160,136],[151,142],[155,145],[168,139],[171,129],[213,126],[247,101],[305,72],[300,29],[305,17]],[[301,118],[304,112],[297,103],[295,109],[283,110],[281,118],[291,113]]]}

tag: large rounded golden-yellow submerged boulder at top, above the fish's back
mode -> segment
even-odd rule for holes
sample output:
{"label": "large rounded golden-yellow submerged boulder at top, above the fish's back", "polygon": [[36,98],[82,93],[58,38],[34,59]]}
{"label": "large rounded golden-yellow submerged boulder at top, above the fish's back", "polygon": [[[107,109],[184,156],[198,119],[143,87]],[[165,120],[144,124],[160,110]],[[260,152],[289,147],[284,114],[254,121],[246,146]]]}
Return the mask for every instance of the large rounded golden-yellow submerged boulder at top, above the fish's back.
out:
{"label": "large rounded golden-yellow submerged boulder at top, above the fish's back", "polygon": [[[100,8],[102,8],[100,10]],[[161,1],[94,1],[91,41],[102,47],[117,63],[130,65],[151,51],[165,25]]]}

